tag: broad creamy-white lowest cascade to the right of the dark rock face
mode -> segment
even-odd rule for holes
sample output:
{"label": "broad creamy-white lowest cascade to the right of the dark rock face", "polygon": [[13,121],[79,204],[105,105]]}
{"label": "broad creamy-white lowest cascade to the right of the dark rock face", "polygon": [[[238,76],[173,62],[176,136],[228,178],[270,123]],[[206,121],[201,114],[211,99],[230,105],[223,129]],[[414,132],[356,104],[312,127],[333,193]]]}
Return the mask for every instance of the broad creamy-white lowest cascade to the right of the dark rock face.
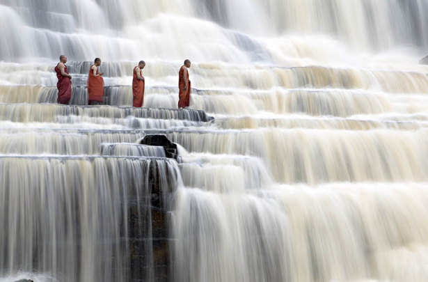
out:
{"label": "broad creamy-white lowest cascade to the right of the dark rock face", "polygon": [[177,201],[173,230],[183,240],[174,281],[427,275],[427,185],[300,185],[246,195],[179,189]]}

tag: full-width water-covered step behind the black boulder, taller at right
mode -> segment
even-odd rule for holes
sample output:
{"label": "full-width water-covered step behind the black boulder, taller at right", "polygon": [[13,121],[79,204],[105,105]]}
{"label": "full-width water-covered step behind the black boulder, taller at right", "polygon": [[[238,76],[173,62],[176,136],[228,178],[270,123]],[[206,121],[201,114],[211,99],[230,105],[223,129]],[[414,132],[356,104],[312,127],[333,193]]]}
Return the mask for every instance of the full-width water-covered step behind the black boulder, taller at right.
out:
{"label": "full-width water-covered step behind the black boulder, taller at right", "polygon": [[[0,132],[2,154],[94,155],[101,143],[135,143],[153,131],[26,130]],[[160,130],[158,132],[161,132]],[[158,133],[157,132],[157,133]],[[253,155],[282,183],[427,181],[426,129],[400,130],[164,130],[189,152]],[[311,148],[311,150],[306,150]],[[372,148],[371,150],[366,150]],[[413,156],[402,162],[400,156]],[[287,157],[283,157],[287,156]],[[388,162],[384,162],[388,159]],[[328,167],[335,166],[331,173]],[[293,168],[290,170],[290,167]],[[360,171],[365,171],[361,174]]]}

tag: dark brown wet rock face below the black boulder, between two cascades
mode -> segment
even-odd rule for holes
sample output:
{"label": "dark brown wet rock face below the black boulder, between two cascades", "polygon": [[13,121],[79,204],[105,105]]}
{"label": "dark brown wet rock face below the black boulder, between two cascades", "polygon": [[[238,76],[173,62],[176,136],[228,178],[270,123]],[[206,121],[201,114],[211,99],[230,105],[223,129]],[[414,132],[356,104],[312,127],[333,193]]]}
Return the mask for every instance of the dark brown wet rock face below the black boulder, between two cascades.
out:
{"label": "dark brown wet rock face below the black boulder, between two cascades", "polygon": [[127,203],[129,256],[124,259],[128,262],[129,282],[168,281],[168,245],[171,239],[168,237],[167,214],[177,187],[175,181],[161,179],[157,162],[150,162],[150,167],[148,193],[131,193],[129,198],[134,198],[134,201]]}

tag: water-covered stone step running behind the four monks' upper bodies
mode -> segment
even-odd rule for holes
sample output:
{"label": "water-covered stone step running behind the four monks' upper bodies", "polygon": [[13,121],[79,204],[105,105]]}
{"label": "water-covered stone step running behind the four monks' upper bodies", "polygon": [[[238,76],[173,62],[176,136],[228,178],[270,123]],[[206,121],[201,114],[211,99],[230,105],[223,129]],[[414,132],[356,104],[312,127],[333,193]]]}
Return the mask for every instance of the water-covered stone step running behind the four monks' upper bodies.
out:
{"label": "water-covered stone step running behind the four monks' upper bodies", "polygon": [[[89,62],[69,62],[75,86],[86,84]],[[132,70],[136,63],[104,62],[106,85],[132,83]],[[55,86],[55,65],[28,65],[3,63],[1,72],[10,84],[42,84]],[[104,67],[103,67],[104,65]],[[104,69],[103,69],[104,68]],[[86,70],[85,70],[86,69]],[[162,81],[168,86],[177,86],[179,63],[148,63],[143,75],[150,81]],[[34,70],[40,70],[34,72]],[[387,93],[428,93],[427,70],[421,65],[420,72],[402,70],[376,70],[362,68],[328,68],[318,65],[287,68],[278,65],[192,65],[190,78],[198,88],[248,88],[268,90],[285,88],[364,88]],[[77,72],[77,73],[74,73]],[[13,74],[13,75],[8,75]],[[197,81],[197,82],[196,82]]]}

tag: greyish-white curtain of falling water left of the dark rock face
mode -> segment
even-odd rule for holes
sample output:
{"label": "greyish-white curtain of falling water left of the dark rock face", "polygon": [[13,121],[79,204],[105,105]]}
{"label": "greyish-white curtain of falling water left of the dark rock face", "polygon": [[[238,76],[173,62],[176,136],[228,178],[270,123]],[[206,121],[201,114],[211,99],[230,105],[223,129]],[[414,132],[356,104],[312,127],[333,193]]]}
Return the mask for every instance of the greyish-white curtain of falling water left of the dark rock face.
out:
{"label": "greyish-white curtain of falling water left of the dark rock face", "polygon": [[152,279],[150,179],[167,195],[180,181],[177,164],[2,156],[0,167],[1,273],[19,266],[70,281],[127,281],[138,254],[147,260],[141,275]]}

